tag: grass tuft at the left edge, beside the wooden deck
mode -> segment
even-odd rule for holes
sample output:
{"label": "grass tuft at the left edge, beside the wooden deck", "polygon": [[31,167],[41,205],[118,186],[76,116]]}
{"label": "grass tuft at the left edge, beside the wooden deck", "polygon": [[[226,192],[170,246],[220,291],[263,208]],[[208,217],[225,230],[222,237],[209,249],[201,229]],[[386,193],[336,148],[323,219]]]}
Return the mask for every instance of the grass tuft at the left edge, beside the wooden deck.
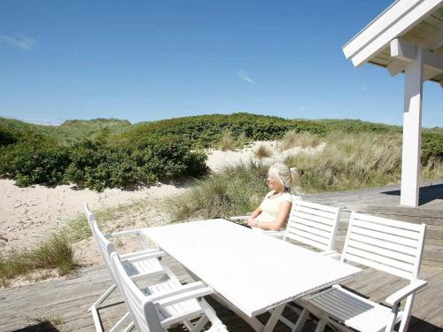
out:
{"label": "grass tuft at the left edge, beside the wooden deck", "polygon": [[62,232],[53,233],[34,248],[9,251],[0,256],[0,284],[36,269],[55,268],[59,275],[68,274],[78,266],[72,242]]}

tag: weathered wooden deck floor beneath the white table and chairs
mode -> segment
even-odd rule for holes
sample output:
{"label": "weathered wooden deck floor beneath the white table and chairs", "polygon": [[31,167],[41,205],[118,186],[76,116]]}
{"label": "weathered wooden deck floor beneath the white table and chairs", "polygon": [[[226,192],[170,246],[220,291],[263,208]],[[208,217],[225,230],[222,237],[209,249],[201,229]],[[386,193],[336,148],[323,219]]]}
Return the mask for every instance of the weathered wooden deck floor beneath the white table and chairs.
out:
{"label": "weathered wooden deck floor beneath the white table and chairs", "polygon": [[[182,266],[171,259],[167,263],[172,266],[182,282],[191,281]],[[421,276],[429,282],[429,287],[416,297],[409,331],[443,331],[443,269],[423,266]],[[381,302],[404,284],[405,282],[396,277],[366,269],[344,285]],[[104,266],[94,266],[82,269],[78,275],[67,280],[1,290],[0,331],[94,331],[92,316],[87,310],[110,285],[111,280]],[[235,313],[225,309],[212,298],[208,301],[230,332],[253,331]],[[112,323],[125,313],[125,305],[121,302],[118,291],[105,301],[105,305],[108,306],[100,310],[100,315],[103,327],[108,331]],[[288,318],[295,320],[297,316],[291,313]],[[267,314],[261,315],[260,319],[266,320]],[[314,329],[315,322],[311,320],[305,326],[304,332]],[[278,332],[289,330],[282,323],[275,329]]]}

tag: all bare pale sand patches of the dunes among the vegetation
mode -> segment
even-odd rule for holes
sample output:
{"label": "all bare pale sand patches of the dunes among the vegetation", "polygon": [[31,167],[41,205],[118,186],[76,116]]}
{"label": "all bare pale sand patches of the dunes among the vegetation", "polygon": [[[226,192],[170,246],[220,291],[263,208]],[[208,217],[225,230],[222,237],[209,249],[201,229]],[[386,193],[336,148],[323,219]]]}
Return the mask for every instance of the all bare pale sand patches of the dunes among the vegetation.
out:
{"label": "all bare pale sand patches of the dunes among the vegetation", "polygon": [[[250,159],[258,160],[254,156],[254,151],[263,144],[272,151],[272,157],[260,159],[268,164],[283,161],[288,155],[294,155],[300,151],[314,153],[324,147],[320,145],[315,149],[307,150],[296,147],[280,152],[277,151],[278,142],[255,142],[238,151],[207,151],[207,165],[214,172],[218,172],[227,165],[247,162]],[[63,226],[67,220],[82,213],[83,202],[88,202],[94,211],[127,204],[136,199],[148,201],[151,199],[158,205],[159,201],[164,198],[172,197],[185,190],[183,187],[159,184],[134,191],[105,189],[98,193],[90,189],[76,190],[68,185],[55,188],[40,185],[19,188],[13,183],[14,181],[11,180],[0,179],[0,249],[2,251],[31,246],[44,235]],[[150,218],[156,217],[152,214]],[[163,215],[161,218],[167,217]],[[138,219],[140,219],[139,216]],[[131,222],[135,225],[137,220],[129,220],[128,227],[131,226]]]}

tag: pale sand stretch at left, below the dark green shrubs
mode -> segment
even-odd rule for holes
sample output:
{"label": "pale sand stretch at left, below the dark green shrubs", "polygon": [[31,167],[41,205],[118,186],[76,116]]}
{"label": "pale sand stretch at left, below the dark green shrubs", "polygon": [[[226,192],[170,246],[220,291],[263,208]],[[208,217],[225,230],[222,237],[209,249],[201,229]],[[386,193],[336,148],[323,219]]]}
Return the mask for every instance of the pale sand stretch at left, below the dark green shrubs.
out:
{"label": "pale sand stretch at left, below the dark green shrubs", "polygon": [[83,202],[93,210],[130,203],[136,199],[159,200],[182,192],[183,188],[161,184],[136,191],[105,189],[98,193],[89,189],[74,190],[61,185],[56,188],[16,187],[14,181],[0,180],[0,250],[26,248],[66,220],[83,212]]}

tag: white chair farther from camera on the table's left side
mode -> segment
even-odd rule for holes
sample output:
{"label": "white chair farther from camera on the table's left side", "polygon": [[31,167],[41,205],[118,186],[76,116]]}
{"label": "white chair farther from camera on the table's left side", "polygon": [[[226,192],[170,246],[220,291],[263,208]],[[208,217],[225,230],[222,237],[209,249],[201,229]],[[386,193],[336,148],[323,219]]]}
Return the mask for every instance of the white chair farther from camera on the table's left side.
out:
{"label": "white chair farther from camera on the table's left side", "polygon": [[[86,218],[88,220],[89,228],[91,229],[94,240],[97,243],[98,250],[102,256],[102,259],[105,262],[105,266],[108,269],[109,274],[113,278],[113,285],[109,287],[109,289],[105,290],[100,297],[97,298],[97,301],[94,302],[90,308],[89,312],[92,313],[92,318],[94,320],[94,324],[96,326],[96,330],[98,332],[102,332],[103,329],[101,327],[100,318],[98,315],[98,309],[100,305],[105,301],[107,297],[113,293],[113,290],[116,288],[116,276],[113,271],[113,265],[111,263],[111,257],[108,254],[110,248],[114,250],[113,244],[108,241],[109,238],[113,238],[114,236],[120,235],[128,235],[128,234],[136,234],[139,230],[133,231],[124,231],[119,233],[114,233],[113,235],[104,235],[100,229],[98,228],[97,221],[89,210],[89,206],[85,203],[84,205]],[[128,253],[126,255],[121,255],[120,259],[122,259],[123,264],[127,273],[130,275],[133,280],[140,280],[146,278],[148,276],[161,275],[166,274],[170,279],[176,280],[175,274],[171,272],[171,270],[161,262],[161,258],[166,256],[164,251],[160,251],[159,249],[151,249],[144,251],[137,251],[133,253]],[[115,331],[121,327],[122,321],[119,321],[111,331]]]}

